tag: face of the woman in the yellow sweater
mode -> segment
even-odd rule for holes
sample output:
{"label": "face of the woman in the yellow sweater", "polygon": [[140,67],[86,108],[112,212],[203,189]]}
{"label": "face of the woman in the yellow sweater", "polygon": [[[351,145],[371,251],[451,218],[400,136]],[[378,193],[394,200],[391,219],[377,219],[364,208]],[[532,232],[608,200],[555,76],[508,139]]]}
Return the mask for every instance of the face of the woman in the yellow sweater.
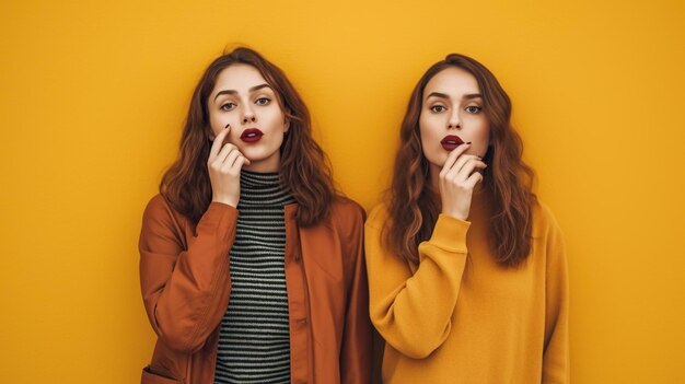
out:
{"label": "face of the woman in the yellow sweater", "polygon": [[490,141],[490,126],[476,78],[450,67],[430,79],[423,90],[419,130],[431,172],[439,173],[448,154],[462,142],[472,142],[466,153],[483,158]]}

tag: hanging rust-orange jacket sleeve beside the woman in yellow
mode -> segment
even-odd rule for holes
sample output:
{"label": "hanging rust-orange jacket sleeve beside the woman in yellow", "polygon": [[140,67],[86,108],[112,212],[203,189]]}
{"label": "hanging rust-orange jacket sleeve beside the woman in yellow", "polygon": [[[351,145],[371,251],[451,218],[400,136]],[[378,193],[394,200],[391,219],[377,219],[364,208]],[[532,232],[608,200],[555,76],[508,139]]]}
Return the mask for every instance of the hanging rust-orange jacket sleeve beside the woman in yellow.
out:
{"label": "hanging rust-orange jacket sleeve beside the woman in yellow", "polygon": [[347,245],[347,312],[340,351],[340,379],[342,384],[371,382],[372,336],[369,321],[369,288],[364,263],[364,211],[356,205],[352,230],[341,238]]}

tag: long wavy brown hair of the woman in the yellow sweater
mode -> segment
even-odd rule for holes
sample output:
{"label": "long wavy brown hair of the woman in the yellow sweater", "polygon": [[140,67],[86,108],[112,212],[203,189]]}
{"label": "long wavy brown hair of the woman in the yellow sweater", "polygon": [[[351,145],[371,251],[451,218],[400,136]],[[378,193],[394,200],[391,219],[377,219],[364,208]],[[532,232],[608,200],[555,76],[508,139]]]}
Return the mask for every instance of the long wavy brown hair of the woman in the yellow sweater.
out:
{"label": "long wavy brown hair of the woman in the yellow sweater", "polygon": [[521,159],[523,142],[511,126],[511,101],[492,73],[478,61],[457,54],[428,69],[411,92],[399,130],[400,147],[388,189],[388,214],[383,229],[385,246],[418,264],[418,245],[428,240],[440,213],[440,199],[430,185],[429,163],[421,150],[419,116],[423,90],[440,71],[457,67],[476,78],[484,98],[483,112],[490,126],[490,146],[485,156],[484,191],[489,195],[492,217],[488,244],[497,261],[516,266],[530,254],[535,174]]}

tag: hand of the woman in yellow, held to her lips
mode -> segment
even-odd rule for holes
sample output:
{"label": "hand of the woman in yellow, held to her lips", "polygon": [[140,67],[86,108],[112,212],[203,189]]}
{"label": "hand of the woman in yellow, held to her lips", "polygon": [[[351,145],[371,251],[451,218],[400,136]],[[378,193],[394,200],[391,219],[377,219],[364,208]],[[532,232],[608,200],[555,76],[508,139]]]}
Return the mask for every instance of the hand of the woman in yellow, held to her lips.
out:
{"label": "hand of the woman in yellow, held to her lips", "polygon": [[442,213],[466,220],[476,184],[483,181],[487,164],[479,156],[465,153],[471,143],[463,143],[450,152],[440,171]]}

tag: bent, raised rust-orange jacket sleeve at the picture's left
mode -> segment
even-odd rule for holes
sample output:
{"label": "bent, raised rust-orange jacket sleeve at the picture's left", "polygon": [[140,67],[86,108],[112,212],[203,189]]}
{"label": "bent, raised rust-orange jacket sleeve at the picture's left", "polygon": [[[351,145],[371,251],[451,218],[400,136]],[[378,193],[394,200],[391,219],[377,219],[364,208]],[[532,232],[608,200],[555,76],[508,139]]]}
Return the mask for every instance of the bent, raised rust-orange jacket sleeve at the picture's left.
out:
{"label": "bent, raised rust-orange jacket sleeve at the picture's left", "polygon": [[183,241],[183,228],[160,195],[150,200],[140,232],[140,288],[160,340],[179,352],[200,349],[223,316],[230,295],[229,251],[237,210],[212,202]]}

